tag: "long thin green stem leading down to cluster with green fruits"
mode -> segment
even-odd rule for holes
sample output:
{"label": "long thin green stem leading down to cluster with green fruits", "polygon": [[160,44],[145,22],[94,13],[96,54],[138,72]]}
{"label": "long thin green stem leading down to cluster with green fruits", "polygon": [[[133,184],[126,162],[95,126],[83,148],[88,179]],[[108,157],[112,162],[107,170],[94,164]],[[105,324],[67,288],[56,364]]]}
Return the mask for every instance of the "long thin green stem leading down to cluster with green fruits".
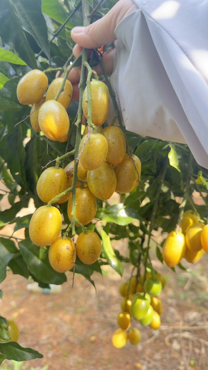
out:
{"label": "long thin green stem leading down to cluster with green fruits", "polygon": [[166,176],[168,162],[169,162],[169,158],[168,158],[168,155],[167,155],[166,160],[164,162],[164,165],[161,168],[160,174],[158,175],[159,186],[157,188],[156,196],[154,197],[153,208],[152,208],[152,212],[151,212],[151,216],[150,216],[150,227],[149,227],[149,231],[148,231],[148,241],[147,241],[146,255],[144,257],[144,263],[143,263],[143,265],[144,265],[144,282],[146,280],[146,273],[147,273],[146,267],[147,267],[147,258],[149,256],[151,232],[153,230],[153,222],[154,222],[154,218],[156,216],[158,200],[159,200],[159,197],[160,197],[161,186],[162,186],[163,180]]}

